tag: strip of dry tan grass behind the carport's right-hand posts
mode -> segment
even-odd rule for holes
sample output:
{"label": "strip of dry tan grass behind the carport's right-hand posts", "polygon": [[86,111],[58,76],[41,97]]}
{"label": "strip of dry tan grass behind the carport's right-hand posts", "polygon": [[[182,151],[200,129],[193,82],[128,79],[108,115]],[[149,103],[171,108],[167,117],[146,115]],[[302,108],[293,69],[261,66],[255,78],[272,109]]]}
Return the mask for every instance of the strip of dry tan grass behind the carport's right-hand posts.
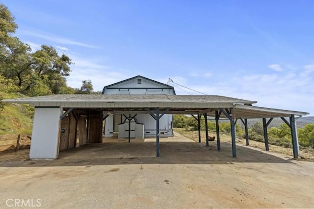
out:
{"label": "strip of dry tan grass behind the carport's right-hand posts", "polygon": [[[176,128],[175,131],[182,134],[186,138],[198,141],[198,131],[186,131],[184,128]],[[216,136],[216,133],[209,131],[209,136]],[[231,142],[231,136],[228,134],[220,134],[220,141]],[[206,142],[205,131],[201,131],[201,142]],[[245,139],[236,138],[236,143],[245,144]],[[263,142],[249,140],[249,146],[265,150],[265,144]],[[293,156],[293,151],[291,148],[285,148],[282,146],[269,144],[269,151],[283,154],[288,157]],[[302,156],[302,158],[304,158],[305,161],[314,162],[314,149],[307,148],[300,150],[299,155]]]}

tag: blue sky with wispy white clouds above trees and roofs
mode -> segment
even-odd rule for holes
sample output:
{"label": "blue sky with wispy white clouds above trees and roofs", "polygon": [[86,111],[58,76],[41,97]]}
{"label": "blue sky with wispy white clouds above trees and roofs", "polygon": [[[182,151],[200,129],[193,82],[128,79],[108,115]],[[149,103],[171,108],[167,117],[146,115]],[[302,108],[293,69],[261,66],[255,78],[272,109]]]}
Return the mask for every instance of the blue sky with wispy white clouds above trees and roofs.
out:
{"label": "blue sky with wispy white clouds above trees and roofs", "polygon": [[206,94],[314,116],[312,0],[0,2],[33,50],[50,45],[72,59],[71,87],[90,79],[101,91],[136,75],[171,78]]}

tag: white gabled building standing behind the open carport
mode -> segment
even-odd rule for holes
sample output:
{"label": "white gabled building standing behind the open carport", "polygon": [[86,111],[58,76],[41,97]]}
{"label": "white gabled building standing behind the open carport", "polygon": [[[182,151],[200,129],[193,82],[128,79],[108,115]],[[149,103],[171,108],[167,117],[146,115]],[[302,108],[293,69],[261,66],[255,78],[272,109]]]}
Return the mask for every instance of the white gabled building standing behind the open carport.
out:
{"label": "white gabled building standing behind the open carport", "polygon": [[[103,94],[175,95],[176,93],[172,86],[137,75],[105,86]],[[160,118],[159,127],[160,137],[172,137],[172,115],[164,115]],[[131,114],[109,114],[105,118],[105,137],[144,139],[155,137],[156,133],[156,120],[149,113],[136,114],[135,116],[131,116]]]}

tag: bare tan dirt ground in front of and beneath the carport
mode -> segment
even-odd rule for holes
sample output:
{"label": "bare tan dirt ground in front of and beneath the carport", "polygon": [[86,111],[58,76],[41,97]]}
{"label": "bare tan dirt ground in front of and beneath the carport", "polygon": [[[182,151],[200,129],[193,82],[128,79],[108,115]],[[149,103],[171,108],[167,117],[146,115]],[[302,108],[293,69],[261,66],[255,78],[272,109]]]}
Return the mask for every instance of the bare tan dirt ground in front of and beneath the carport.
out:
{"label": "bare tan dirt ground in front of and beneath the carport", "polygon": [[241,144],[233,158],[221,145],[176,134],[161,139],[160,158],[153,139],[105,139],[58,160],[1,153],[0,208],[314,208],[313,162]]}

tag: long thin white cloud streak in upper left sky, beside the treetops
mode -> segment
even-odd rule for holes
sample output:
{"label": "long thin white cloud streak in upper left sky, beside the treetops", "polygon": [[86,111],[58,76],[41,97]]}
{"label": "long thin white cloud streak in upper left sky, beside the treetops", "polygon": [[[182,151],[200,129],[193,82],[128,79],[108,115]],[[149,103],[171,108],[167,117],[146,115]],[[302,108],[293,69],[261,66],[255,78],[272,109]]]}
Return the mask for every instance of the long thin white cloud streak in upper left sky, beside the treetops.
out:
{"label": "long thin white cloud streak in upper left sky, beside the treetops", "polygon": [[23,34],[24,36],[41,38],[41,39],[52,41],[52,42],[58,43],[58,44],[96,48],[96,46],[93,46],[93,45],[85,44],[85,43],[78,42],[78,41],[73,41],[73,40],[68,39],[68,38],[59,37],[59,36],[48,34],[48,33],[43,33],[43,32],[38,32],[38,31],[29,31],[29,30],[21,30],[19,32],[21,34]]}

